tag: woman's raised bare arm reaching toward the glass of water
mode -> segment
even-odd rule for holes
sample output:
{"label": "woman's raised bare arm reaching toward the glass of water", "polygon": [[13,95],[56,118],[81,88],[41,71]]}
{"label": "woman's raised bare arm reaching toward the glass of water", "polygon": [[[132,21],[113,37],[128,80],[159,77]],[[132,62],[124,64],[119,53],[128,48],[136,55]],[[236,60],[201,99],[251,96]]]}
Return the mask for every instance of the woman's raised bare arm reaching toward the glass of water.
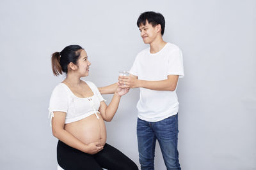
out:
{"label": "woman's raised bare arm reaching toward the glass of water", "polygon": [[[117,83],[116,85],[119,86],[120,84]],[[117,87],[115,94],[113,95],[112,100],[108,106],[104,101],[100,103],[99,112],[104,120],[107,122],[112,120],[120,103],[121,96],[127,94],[127,92],[129,92],[128,88]]]}

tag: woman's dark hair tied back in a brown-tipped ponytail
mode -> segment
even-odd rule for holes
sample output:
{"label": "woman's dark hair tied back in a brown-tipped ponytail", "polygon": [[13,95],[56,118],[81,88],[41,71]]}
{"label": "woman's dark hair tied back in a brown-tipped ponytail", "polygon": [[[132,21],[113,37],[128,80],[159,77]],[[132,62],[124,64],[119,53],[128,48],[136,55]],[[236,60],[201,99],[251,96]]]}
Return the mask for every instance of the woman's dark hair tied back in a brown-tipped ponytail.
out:
{"label": "woman's dark hair tied back in a brown-tipped ponytail", "polygon": [[52,53],[52,71],[55,76],[59,74],[68,73],[68,64],[73,62],[77,64],[81,50],[83,48],[79,45],[68,45],[61,52]]}

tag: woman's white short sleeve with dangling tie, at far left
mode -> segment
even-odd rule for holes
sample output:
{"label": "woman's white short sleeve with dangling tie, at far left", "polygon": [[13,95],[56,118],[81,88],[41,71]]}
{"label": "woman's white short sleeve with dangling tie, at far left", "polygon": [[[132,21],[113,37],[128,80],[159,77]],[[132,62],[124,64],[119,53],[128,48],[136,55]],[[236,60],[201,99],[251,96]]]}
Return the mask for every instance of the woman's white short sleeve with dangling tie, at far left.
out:
{"label": "woman's white short sleeve with dangling tie, at far left", "polygon": [[51,117],[51,120],[52,117],[54,117],[53,111],[62,111],[65,113],[68,111],[68,96],[67,91],[64,88],[65,87],[61,86],[60,84],[52,91],[49,103],[49,118]]}

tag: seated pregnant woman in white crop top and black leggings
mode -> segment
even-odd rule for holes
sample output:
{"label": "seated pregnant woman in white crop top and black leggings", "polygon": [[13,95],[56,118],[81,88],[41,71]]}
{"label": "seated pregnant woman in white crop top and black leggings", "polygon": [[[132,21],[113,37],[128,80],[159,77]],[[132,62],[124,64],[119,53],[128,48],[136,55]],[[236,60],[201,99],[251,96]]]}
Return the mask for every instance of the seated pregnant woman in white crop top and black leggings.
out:
{"label": "seated pregnant woman in white crop top and black leggings", "polygon": [[58,164],[65,170],[138,169],[124,153],[106,143],[104,120],[112,120],[120,97],[128,89],[118,85],[107,106],[97,87],[81,80],[88,76],[90,65],[87,53],[79,45],[52,54],[54,75],[67,74],[53,90],[49,106],[52,134],[59,139]]}

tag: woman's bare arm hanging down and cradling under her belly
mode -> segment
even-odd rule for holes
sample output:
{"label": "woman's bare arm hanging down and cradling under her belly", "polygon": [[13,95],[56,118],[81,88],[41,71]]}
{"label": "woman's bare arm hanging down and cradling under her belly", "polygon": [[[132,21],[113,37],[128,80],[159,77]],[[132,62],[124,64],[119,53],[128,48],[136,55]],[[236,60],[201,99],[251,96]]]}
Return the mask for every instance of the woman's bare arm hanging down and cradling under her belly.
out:
{"label": "woman's bare arm hanging down and cradling under her belly", "polygon": [[103,149],[103,146],[100,146],[100,142],[90,143],[89,145],[85,145],[75,136],[70,134],[70,132],[64,129],[65,126],[65,117],[66,113],[61,111],[54,111],[54,117],[52,117],[52,134],[56,138],[63,141],[63,143],[71,146],[72,148],[76,148],[77,150],[81,150],[82,152],[94,154]]}

